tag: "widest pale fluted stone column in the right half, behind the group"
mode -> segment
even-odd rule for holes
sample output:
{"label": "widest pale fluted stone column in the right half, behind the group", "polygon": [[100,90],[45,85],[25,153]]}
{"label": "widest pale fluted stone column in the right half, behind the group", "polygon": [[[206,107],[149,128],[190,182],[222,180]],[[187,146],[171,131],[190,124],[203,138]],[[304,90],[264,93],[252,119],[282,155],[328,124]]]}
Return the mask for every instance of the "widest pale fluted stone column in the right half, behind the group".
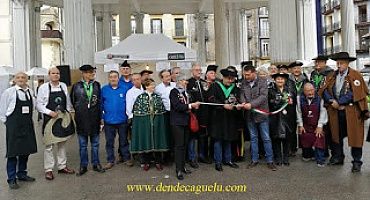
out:
{"label": "widest pale fluted stone column in the right half, behind the group", "polygon": [[298,59],[296,1],[269,1],[271,62]]}

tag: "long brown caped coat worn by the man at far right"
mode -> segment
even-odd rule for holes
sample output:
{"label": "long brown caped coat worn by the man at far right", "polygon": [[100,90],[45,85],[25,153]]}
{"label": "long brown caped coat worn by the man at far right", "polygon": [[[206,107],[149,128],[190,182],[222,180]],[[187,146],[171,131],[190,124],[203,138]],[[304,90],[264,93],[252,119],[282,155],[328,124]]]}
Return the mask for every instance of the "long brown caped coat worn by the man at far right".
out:
{"label": "long brown caped coat worn by the man at far right", "polygon": [[[325,90],[327,90],[331,96],[335,96],[333,88],[335,87],[337,74],[338,71],[327,77],[324,86],[319,90],[320,96],[323,95]],[[368,89],[362,75],[351,68],[348,68],[348,75],[343,85],[347,83],[353,93],[353,103],[345,106],[348,145],[351,147],[362,147],[364,142],[364,114],[368,110],[366,102]],[[328,105],[327,110],[332,140],[335,143],[339,143],[340,124],[338,122],[338,110],[331,105]]]}

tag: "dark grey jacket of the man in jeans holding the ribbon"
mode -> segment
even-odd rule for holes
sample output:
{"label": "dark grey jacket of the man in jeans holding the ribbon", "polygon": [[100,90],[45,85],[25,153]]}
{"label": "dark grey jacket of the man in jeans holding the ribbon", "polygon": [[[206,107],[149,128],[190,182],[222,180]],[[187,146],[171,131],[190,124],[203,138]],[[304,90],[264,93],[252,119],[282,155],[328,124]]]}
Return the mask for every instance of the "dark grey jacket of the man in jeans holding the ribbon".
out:
{"label": "dark grey jacket of the man in jeans holding the ribbon", "polygon": [[[262,110],[269,110],[267,102],[267,80],[265,78],[257,77],[254,82],[253,87],[250,87],[247,80],[242,81],[241,92],[240,92],[240,102],[250,103],[252,108],[258,108]],[[251,111],[246,111],[246,120],[253,120],[255,123],[260,123],[267,120],[267,117],[262,114],[254,113]]]}

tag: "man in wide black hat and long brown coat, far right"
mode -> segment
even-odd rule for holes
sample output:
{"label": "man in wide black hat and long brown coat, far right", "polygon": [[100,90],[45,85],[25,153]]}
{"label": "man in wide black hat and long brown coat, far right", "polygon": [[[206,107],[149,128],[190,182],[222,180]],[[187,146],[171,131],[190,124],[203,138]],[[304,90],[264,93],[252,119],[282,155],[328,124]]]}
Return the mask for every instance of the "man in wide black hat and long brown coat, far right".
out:
{"label": "man in wide black hat and long brown coat, far right", "polygon": [[351,147],[352,172],[360,172],[364,142],[364,120],[368,116],[367,85],[362,75],[349,67],[355,57],[348,52],[339,52],[332,58],[338,70],[327,76],[319,95],[327,104],[329,125],[332,134],[333,155],[331,165],[343,165],[343,138],[348,137]]}

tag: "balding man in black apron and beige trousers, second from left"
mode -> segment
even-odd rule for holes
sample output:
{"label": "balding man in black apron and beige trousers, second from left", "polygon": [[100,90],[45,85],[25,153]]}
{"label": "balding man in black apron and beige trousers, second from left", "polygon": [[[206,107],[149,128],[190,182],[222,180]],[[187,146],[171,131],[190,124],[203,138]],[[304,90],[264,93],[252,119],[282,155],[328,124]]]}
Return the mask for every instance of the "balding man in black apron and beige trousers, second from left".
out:
{"label": "balding man in black apron and beige trousers, second from left", "polygon": [[[39,88],[37,95],[37,110],[44,114],[45,128],[47,122],[58,116],[58,111],[71,111],[72,105],[68,95],[67,86],[65,83],[59,81],[60,72],[58,68],[51,68],[49,70],[50,82],[44,83]],[[44,134],[44,130],[42,131]],[[58,137],[64,137],[60,135]],[[65,143],[58,142],[51,145],[45,146],[44,151],[44,168],[45,178],[47,180],[53,180],[53,168],[54,168],[54,155],[53,146],[57,146],[57,162],[58,162],[58,173],[59,174],[74,174],[75,171],[67,167],[67,156],[65,150]]]}

